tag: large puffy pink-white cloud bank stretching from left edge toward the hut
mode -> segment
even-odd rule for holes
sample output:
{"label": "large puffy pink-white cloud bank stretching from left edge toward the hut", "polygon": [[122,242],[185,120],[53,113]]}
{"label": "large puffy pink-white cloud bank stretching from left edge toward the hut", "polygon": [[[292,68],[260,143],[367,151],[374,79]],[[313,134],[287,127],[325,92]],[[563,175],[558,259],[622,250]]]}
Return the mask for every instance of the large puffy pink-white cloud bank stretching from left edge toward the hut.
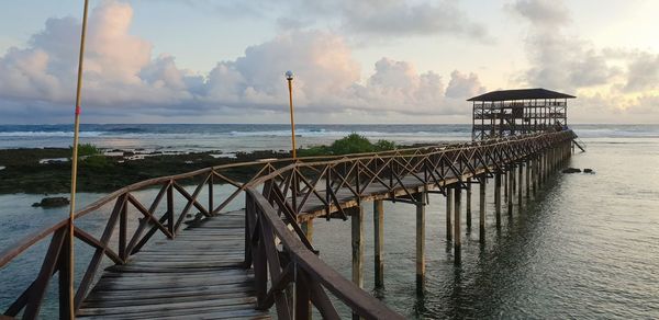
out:
{"label": "large puffy pink-white cloud bank stretching from left edge toward the hut", "polygon": [[[153,58],[153,45],[130,34],[132,15],[129,4],[116,1],[103,1],[92,11],[82,98],[92,113],[284,112],[287,69],[295,71],[295,103],[302,113],[453,114],[466,105],[465,98],[483,90],[473,73],[455,71],[445,87],[437,73],[388,58],[362,79],[344,37],[320,31],[282,33],[246,48],[242,57],[196,73],[179,68],[172,56]],[[70,108],[79,30],[75,19],[51,19],[26,48],[14,47],[0,57],[0,110],[16,103],[38,104],[46,114]]]}

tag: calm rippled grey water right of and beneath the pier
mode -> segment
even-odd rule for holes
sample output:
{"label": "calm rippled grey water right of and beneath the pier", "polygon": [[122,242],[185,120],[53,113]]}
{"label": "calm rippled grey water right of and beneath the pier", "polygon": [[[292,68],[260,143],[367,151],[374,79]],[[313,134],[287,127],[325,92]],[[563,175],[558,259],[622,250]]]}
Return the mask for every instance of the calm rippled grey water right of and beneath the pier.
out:
{"label": "calm rippled grey water right of and beneath the pier", "polygon": [[[366,288],[409,318],[658,318],[659,140],[634,142],[590,141],[589,152],[574,156],[569,165],[596,174],[556,174],[521,212],[512,217],[504,212],[500,230],[489,184],[485,243],[479,241],[476,228],[463,235],[458,265],[446,241],[444,198],[433,195],[421,296],[415,293],[414,207],[386,203],[386,287],[376,290],[372,208],[365,203]],[[472,208],[478,208],[477,196]],[[314,244],[324,261],[349,277],[348,224],[319,219]]]}

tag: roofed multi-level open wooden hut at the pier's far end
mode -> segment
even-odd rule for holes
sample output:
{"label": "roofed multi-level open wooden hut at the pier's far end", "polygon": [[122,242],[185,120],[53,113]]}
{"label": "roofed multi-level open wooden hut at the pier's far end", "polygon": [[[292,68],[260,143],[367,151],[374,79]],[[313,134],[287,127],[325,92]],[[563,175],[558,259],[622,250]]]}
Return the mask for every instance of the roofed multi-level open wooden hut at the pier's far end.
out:
{"label": "roofed multi-level open wooden hut at the pier's far end", "polygon": [[568,125],[568,99],[576,96],[546,89],[488,92],[473,103],[473,140],[563,129]]}

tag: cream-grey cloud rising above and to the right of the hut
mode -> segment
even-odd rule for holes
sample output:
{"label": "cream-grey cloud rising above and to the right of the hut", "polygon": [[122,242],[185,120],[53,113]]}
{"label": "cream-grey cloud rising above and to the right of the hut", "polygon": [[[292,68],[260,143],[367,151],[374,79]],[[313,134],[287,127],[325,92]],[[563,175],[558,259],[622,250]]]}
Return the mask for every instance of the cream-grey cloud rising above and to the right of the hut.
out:
{"label": "cream-grey cloud rising above and to the right of the hut", "polygon": [[506,5],[529,25],[525,39],[529,67],[520,82],[577,93],[577,114],[582,121],[599,117],[632,122],[657,121],[634,117],[649,114],[659,101],[659,55],[621,48],[597,48],[568,33],[570,12],[562,1],[516,0]]}

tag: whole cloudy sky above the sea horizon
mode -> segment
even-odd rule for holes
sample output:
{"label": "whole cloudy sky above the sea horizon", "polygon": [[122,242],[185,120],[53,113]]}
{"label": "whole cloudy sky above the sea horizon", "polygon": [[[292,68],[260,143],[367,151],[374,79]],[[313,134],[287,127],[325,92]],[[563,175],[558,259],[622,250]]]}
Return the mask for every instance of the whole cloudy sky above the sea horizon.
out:
{"label": "whole cloudy sky above the sea horizon", "polygon": [[[83,123],[470,123],[546,88],[570,123],[659,123],[654,0],[90,0]],[[0,124],[74,117],[82,0],[3,1]]]}

